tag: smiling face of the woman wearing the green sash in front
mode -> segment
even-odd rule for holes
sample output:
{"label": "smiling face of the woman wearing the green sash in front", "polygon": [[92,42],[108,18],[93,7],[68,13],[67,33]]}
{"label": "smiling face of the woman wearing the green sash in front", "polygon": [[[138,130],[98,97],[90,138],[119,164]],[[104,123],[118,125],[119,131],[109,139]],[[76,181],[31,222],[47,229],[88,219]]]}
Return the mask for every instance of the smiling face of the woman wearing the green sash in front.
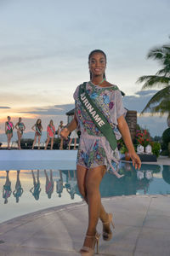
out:
{"label": "smiling face of the woman wearing the green sash in front", "polygon": [[90,57],[88,67],[93,76],[104,75],[106,67],[105,55],[100,52],[94,53]]}

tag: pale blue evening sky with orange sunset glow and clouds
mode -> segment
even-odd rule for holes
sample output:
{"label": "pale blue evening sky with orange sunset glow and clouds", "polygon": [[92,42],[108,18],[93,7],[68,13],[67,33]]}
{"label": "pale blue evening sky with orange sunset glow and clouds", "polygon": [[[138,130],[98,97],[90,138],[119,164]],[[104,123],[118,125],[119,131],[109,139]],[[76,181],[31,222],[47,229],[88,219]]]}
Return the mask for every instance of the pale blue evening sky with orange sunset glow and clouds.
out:
{"label": "pale blue evening sky with orange sunset glow and clouds", "polygon": [[[107,55],[106,77],[125,92],[125,107],[140,112],[156,92],[141,91],[137,79],[161,67],[146,55],[169,42],[168,0],[0,0],[0,141],[7,115],[21,116],[26,132],[37,118],[66,123],[73,93],[89,80],[88,54]],[[152,136],[166,117],[139,116]]]}

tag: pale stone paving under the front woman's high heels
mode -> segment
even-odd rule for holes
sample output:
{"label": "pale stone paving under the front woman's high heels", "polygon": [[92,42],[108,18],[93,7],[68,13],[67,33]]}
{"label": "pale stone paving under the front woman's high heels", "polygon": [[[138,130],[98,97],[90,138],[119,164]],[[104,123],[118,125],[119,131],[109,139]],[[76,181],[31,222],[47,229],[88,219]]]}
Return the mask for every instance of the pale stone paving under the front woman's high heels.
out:
{"label": "pale stone paving under the front woman's high heels", "polygon": [[[111,241],[100,239],[99,255],[170,255],[170,195],[116,196],[102,201],[114,214],[116,230]],[[87,224],[84,202],[14,218],[0,224],[0,255],[80,255]],[[102,232],[100,222],[98,230]]]}

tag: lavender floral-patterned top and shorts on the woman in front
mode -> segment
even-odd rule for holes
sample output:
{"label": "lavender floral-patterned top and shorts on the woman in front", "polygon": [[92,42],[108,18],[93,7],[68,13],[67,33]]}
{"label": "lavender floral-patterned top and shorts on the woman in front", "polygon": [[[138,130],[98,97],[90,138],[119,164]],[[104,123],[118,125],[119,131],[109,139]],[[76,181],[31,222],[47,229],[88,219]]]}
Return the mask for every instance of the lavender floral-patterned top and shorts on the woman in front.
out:
{"label": "lavender floral-patterned top and shorts on the woman in front", "polygon": [[[80,85],[79,85],[80,86]],[[94,125],[86,110],[78,99],[79,86],[74,93],[75,109],[78,120],[78,130],[81,131],[80,143],[77,154],[77,166],[94,168],[106,166],[108,172],[118,172],[119,151],[112,150],[105,136]],[[127,111],[122,105],[122,94],[116,85],[100,87],[88,82],[86,84],[88,95],[94,100],[95,105],[105,115],[110,123],[116,139],[121,138],[117,129],[117,119],[126,115]]]}

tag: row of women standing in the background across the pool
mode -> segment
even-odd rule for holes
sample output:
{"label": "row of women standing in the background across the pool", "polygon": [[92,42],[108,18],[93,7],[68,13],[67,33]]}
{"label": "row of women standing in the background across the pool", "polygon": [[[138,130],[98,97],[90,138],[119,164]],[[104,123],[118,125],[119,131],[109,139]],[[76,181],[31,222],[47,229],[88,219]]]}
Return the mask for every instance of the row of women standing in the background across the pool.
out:
{"label": "row of women standing in the background across the pool", "polygon": [[[22,138],[23,132],[26,130],[26,125],[22,122],[21,118],[19,118],[16,125],[13,124],[13,122],[11,121],[10,116],[8,116],[7,119],[8,120],[5,122],[5,133],[6,133],[7,139],[8,139],[8,149],[10,149],[10,142],[11,142],[11,138],[13,137],[13,130],[14,129],[17,130],[18,148],[21,149],[20,140]],[[60,137],[59,134],[60,134],[60,131],[64,127],[65,127],[65,125],[63,124],[63,121],[61,120],[57,131],[55,131],[54,121],[52,119],[49,121],[49,124],[47,126],[47,141],[46,141],[46,144],[45,144],[45,147],[44,147],[45,150],[48,148],[48,143],[49,142],[50,142],[50,149],[53,149],[54,137],[55,137],[56,133],[57,133],[58,137],[60,138],[59,149],[63,149],[64,138]],[[35,125],[33,125],[31,127],[31,130],[35,131],[35,137],[34,137],[34,141],[32,143],[32,148],[31,149],[34,149],[36,143],[38,144],[38,149],[40,149],[40,140],[41,140],[41,137],[42,137],[42,120],[37,119],[37,122],[35,123]],[[71,136],[70,136],[69,149],[71,149],[71,142],[72,142],[73,138],[75,139],[74,149],[76,149],[77,137],[78,137],[77,132],[73,131],[71,133]]]}

